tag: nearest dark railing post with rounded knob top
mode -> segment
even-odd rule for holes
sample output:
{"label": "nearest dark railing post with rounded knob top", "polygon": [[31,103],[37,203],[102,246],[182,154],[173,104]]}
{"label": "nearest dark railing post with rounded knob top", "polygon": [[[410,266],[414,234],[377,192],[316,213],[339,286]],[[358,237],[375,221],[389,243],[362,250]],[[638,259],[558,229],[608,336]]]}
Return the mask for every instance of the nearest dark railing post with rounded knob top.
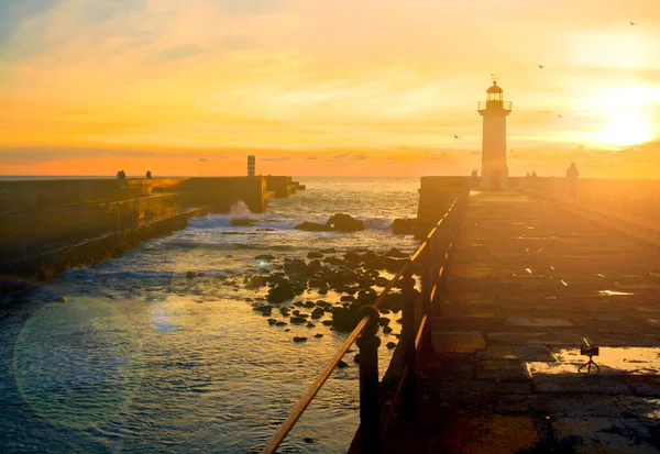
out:
{"label": "nearest dark railing post with rounded knob top", "polygon": [[378,318],[373,306],[360,309],[362,318],[369,317],[356,344],[360,347],[360,452],[381,453],[381,405],[378,391]]}

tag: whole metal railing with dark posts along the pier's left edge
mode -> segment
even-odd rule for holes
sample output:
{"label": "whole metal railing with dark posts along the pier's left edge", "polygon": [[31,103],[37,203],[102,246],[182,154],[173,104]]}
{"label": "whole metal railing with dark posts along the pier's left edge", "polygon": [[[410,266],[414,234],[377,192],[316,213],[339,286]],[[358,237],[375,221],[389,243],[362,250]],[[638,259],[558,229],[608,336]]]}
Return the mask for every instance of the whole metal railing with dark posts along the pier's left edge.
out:
{"label": "whole metal railing with dark posts along the pier's left edge", "polygon": [[[431,340],[432,306],[435,301],[439,300],[440,295],[446,288],[446,276],[453,251],[451,236],[455,233],[455,229],[460,222],[460,214],[458,212],[464,207],[466,196],[468,191],[463,191],[453,200],[444,215],[431,229],[417,251],[399,268],[374,303],[363,306],[360,309],[359,313],[361,318],[355,329],[349,334],[345,342],[334,356],[332,356],[328,366],[326,366],[308,391],[289,412],[289,416],[282,423],[277,432],[275,432],[262,451],[262,454],[272,454],[277,450],[353,343],[356,343],[360,348],[360,451],[362,453],[369,452],[374,454],[382,451],[382,436],[388,428],[396,405],[402,397],[403,418],[408,420],[417,418],[416,357],[418,351],[424,353],[433,351]],[[453,215],[451,215],[452,213]],[[443,255],[441,253],[442,248],[446,248]],[[421,275],[421,319],[417,330],[415,329],[417,324],[415,314],[416,297],[415,279],[413,277],[416,274],[415,272],[420,272],[419,274]],[[404,364],[397,390],[392,399],[389,413],[382,421],[377,356],[381,340],[376,335],[380,318],[377,308],[399,281],[402,281],[402,292],[404,295],[400,337],[404,348]],[[382,427],[385,430],[382,430]]]}

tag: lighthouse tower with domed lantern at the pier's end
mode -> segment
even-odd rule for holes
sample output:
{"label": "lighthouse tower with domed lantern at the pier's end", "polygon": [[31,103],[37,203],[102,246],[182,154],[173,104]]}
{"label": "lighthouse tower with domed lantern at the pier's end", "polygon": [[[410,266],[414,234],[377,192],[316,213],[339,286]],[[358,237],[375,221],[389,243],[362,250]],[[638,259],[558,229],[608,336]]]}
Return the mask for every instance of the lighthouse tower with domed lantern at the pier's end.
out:
{"label": "lighthouse tower with domed lantern at the pier's end", "polygon": [[486,100],[477,107],[484,119],[482,137],[482,188],[501,189],[506,187],[508,167],[506,165],[506,117],[512,113],[512,103],[504,100],[504,92],[493,80],[486,90]]}

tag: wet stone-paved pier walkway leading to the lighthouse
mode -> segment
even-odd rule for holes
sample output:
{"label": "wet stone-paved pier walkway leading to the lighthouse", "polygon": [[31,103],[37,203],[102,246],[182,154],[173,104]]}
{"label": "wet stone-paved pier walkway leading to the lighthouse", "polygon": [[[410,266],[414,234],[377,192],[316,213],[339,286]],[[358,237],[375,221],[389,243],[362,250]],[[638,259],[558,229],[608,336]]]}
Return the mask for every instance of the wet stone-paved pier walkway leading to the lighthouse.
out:
{"label": "wet stone-paved pier walkway leading to the lighthouse", "polygon": [[[392,453],[660,453],[660,248],[513,191],[473,192]],[[596,374],[578,373],[586,337]]]}

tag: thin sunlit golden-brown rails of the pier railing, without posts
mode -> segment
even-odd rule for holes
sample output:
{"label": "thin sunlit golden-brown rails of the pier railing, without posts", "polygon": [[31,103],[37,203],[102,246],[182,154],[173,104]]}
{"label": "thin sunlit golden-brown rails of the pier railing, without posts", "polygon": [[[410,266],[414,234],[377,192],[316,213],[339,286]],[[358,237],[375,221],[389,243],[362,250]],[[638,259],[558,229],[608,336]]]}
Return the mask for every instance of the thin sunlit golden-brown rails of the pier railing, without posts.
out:
{"label": "thin sunlit golden-brown rails of the pier railing, without posts", "polygon": [[[451,206],[449,207],[449,209],[447,210],[447,212],[444,213],[444,215],[442,218],[440,218],[440,220],[433,226],[433,229],[431,230],[431,232],[429,232],[429,234],[427,235],[426,240],[419,245],[419,247],[417,248],[417,251],[415,251],[415,253],[413,253],[413,255],[410,256],[410,258],[408,258],[407,261],[405,261],[405,263],[402,265],[402,267],[398,269],[398,272],[395,274],[395,276],[392,278],[392,280],[389,283],[387,283],[387,285],[385,286],[385,288],[383,289],[383,291],[381,291],[381,294],[374,300],[374,302],[372,304],[374,308],[378,308],[383,303],[383,301],[385,300],[385,297],[389,294],[389,291],[394,288],[394,286],[402,279],[402,277],[404,277],[406,274],[409,273],[410,266],[413,266],[413,264],[420,257],[421,253],[427,247],[429,247],[429,242],[435,237],[435,234],[438,232],[438,228],[444,222],[444,220],[447,219],[447,217],[449,215],[449,213],[452,211],[452,209],[458,203],[458,201],[461,198],[461,196],[462,195],[459,195],[453,200],[453,202],[451,203]],[[449,253],[446,254],[446,258],[448,256],[449,256]],[[442,273],[442,269],[443,268],[441,268],[440,273]],[[374,311],[373,309],[371,309],[371,310]],[[374,312],[377,314],[377,311],[374,311]],[[419,339],[421,336],[421,332],[424,330],[424,326],[426,325],[426,321],[427,320],[428,320],[428,318],[425,315],[425,319],[424,319],[425,323],[421,324],[421,330],[415,336],[415,339],[416,339],[415,345],[417,345],[419,343]],[[275,434],[273,435],[273,438],[271,439],[271,441],[268,442],[268,444],[262,451],[262,454],[273,454],[275,452],[275,450],[277,450],[277,447],[279,447],[279,444],[284,441],[284,439],[286,438],[286,435],[294,428],[294,425],[296,424],[296,422],[298,421],[298,419],[300,419],[300,417],[302,416],[302,413],[305,412],[305,410],[307,409],[307,407],[309,406],[309,403],[314,400],[314,398],[316,397],[316,395],[318,394],[318,391],[321,389],[321,387],[323,386],[323,384],[328,380],[328,378],[332,374],[332,370],[334,370],[334,368],[337,367],[337,365],[339,364],[339,362],[341,361],[341,358],[346,354],[346,351],[358,340],[358,336],[360,336],[361,334],[363,334],[365,328],[369,325],[369,321],[370,321],[370,317],[369,315],[365,315],[365,317],[363,317],[360,320],[360,322],[358,323],[358,325],[355,326],[355,329],[353,329],[353,331],[351,332],[351,334],[349,334],[349,337],[339,347],[339,350],[337,351],[337,353],[334,354],[334,356],[332,356],[331,362],[321,372],[320,376],[310,386],[310,388],[308,389],[308,391],[298,401],[298,403],[296,405],[296,407],[294,407],[294,409],[289,412],[289,416],[282,423],[282,425],[279,427],[279,429],[277,430],[277,432],[275,432]],[[403,375],[403,377],[405,377],[406,375],[408,375],[409,367],[410,366],[408,364],[406,364],[406,366],[404,368],[404,370],[406,372],[406,374]],[[404,381],[405,380],[402,379],[402,383],[399,384],[399,388],[402,388],[404,386]],[[400,389],[397,390],[397,395],[398,395],[398,392],[400,392]],[[393,401],[393,407],[394,407],[394,401]],[[387,421],[386,421],[386,423],[387,423]]]}

